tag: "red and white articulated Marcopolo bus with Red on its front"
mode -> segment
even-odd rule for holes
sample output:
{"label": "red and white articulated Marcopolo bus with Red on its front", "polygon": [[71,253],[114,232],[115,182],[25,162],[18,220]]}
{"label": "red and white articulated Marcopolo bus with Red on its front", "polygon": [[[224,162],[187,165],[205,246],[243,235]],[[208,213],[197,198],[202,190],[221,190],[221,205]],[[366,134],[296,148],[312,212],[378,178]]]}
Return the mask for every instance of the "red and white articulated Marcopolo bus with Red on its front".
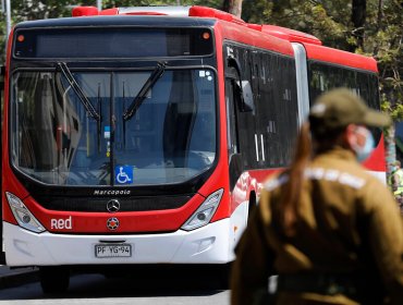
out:
{"label": "red and white articulated Marcopolo bus with Red on its front", "polygon": [[[371,58],[204,7],[83,7],[17,24],[3,125],[7,265],[62,291],[75,266],[216,264],[312,100],[379,108]],[[368,160],[384,179],[380,132]]]}

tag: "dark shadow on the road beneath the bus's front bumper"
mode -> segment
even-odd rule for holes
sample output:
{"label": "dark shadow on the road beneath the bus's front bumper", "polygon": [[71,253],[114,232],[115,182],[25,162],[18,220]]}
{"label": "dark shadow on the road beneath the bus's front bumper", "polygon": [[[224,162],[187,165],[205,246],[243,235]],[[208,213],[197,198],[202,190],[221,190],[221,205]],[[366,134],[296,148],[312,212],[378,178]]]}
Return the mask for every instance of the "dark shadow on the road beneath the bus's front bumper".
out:
{"label": "dark shadow on the road beneath the bus's front bumper", "polygon": [[212,296],[227,289],[228,268],[203,265],[109,266],[102,274],[74,270],[69,290],[63,293],[44,294],[36,282],[2,290],[0,300]]}

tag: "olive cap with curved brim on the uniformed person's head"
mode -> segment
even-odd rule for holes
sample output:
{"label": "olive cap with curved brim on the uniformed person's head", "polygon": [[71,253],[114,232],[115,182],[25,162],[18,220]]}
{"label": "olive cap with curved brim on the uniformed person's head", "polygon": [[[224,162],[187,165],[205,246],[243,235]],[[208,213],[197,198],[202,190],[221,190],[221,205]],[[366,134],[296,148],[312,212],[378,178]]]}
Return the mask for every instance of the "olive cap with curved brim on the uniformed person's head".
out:
{"label": "olive cap with curved brim on the uniformed person's head", "polygon": [[390,117],[368,108],[364,100],[346,88],[329,90],[318,97],[309,111],[309,121],[325,130],[337,130],[357,124],[384,127],[392,123]]}

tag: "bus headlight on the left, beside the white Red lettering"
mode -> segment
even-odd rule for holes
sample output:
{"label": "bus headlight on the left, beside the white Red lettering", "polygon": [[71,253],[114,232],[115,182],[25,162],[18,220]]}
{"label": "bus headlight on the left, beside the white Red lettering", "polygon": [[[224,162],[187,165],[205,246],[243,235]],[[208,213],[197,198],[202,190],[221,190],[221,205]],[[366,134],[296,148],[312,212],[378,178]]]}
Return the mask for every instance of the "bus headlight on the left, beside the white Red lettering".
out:
{"label": "bus headlight on the left, beside the white Red lettering", "polygon": [[35,233],[40,233],[45,231],[45,228],[34,217],[34,215],[32,215],[32,212],[26,208],[26,206],[17,196],[9,192],[5,192],[5,196],[9,202],[11,211],[13,212],[20,227]]}

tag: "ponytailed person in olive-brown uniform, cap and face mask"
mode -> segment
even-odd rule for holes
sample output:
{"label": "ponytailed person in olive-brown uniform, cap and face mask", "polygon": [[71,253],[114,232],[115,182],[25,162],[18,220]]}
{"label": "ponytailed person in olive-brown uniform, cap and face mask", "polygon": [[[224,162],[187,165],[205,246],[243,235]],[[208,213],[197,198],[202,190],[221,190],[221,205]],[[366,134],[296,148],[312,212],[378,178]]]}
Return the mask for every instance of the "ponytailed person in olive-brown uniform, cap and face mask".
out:
{"label": "ponytailed person in olive-brown uniform, cap and face mask", "polygon": [[[345,88],[318,98],[290,168],[265,184],[235,248],[231,304],[403,304],[403,225],[359,161],[391,123]],[[268,304],[268,303],[265,303]]]}

